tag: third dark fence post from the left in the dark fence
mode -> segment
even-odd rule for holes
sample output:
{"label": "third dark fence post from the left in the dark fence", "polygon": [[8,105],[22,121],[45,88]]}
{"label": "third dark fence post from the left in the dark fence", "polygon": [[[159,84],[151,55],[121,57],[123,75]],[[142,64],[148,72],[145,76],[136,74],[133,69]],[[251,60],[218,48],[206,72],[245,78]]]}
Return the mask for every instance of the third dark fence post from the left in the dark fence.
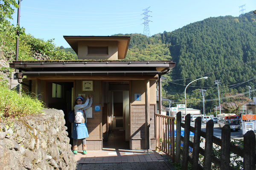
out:
{"label": "third dark fence post from the left in the dark fence", "polygon": [[200,139],[201,139],[201,124],[202,124],[202,118],[201,117],[196,118],[194,146],[193,146],[193,153],[192,153],[192,170],[198,169],[198,159],[199,159]]}

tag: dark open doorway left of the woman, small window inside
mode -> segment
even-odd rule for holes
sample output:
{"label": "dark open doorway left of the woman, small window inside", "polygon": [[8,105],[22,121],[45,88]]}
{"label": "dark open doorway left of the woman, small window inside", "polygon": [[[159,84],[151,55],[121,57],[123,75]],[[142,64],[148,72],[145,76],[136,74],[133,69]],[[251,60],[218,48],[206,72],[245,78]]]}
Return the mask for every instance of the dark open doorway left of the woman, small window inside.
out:
{"label": "dark open doorway left of the woman, small window inside", "polygon": [[[67,126],[68,137],[71,139],[72,125],[68,121],[68,113],[73,109],[73,87],[74,82],[46,82],[46,105],[64,112],[65,126]],[[72,144],[73,140],[70,140]]]}

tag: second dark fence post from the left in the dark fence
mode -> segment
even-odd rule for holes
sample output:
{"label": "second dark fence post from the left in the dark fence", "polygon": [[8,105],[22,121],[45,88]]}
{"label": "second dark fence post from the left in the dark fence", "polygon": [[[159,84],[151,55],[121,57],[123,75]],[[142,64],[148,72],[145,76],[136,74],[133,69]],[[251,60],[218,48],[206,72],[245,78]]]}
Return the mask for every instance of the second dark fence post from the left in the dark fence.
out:
{"label": "second dark fence post from the left in the dark fence", "polygon": [[189,133],[190,133],[190,114],[185,116],[184,140],[183,140],[183,153],[182,153],[182,170],[188,169],[189,161]]}

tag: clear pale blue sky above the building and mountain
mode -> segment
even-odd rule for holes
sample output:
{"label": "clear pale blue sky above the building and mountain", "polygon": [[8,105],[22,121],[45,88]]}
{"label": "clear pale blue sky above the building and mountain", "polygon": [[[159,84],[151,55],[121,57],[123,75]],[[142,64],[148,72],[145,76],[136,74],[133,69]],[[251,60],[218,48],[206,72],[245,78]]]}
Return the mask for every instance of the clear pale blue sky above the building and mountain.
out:
{"label": "clear pale blue sky above the building and mountain", "polygon": [[[174,31],[208,17],[256,10],[256,0],[23,0],[20,26],[27,34],[70,47],[64,35],[143,34],[143,9],[150,6],[150,34]],[[17,11],[17,10],[16,10]],[[17,13],[14,14],[14,25]]]}

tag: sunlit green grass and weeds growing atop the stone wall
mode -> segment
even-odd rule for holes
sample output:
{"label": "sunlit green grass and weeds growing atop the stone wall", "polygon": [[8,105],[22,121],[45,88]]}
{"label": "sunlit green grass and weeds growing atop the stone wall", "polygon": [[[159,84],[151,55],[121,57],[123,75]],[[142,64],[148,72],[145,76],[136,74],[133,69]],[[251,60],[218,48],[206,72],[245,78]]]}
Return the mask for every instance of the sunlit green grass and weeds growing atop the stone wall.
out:
{"label": "sunlit green grass and weeds growing atop the stone wall", "polygon": [[30,114],[42,113],[43,104],[36,98],[9,90],[6,80],[0,78],[0,122]]}

